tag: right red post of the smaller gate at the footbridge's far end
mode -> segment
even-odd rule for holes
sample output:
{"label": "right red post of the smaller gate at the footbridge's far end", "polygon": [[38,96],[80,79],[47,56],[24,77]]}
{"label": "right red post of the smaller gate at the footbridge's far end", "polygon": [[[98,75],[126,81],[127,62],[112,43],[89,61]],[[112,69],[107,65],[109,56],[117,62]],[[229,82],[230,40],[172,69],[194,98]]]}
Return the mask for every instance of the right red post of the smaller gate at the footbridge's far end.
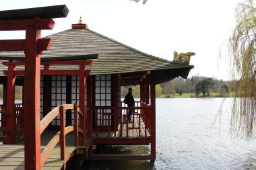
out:
{"label": "right red post of the smaller gate at the footbridge's far end", "polygon": [[[86,65],[79,65],[79,108],[85,112],[85,98],[86,98]],[[86,114],[83,118],[79,118],[79,126],[84,130],[84,136],[80,137],[80,144],[84,145],[86,141]]]}

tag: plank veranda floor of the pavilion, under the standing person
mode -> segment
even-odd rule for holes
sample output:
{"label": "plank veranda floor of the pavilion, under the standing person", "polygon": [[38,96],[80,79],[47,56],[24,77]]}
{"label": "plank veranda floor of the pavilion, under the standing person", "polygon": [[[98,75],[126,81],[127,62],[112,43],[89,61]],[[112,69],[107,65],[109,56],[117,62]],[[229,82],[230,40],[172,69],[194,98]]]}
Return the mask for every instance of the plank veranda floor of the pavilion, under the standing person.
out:
{"label": "plank veranda floor of the pavilion, under the standing person", "polygon": [[[140,134],[139,134],[140,131]],[[146,133],[145,133],[146,132]],[[116,133],[116,136],[115,136]],[[127,135],[127,124],[122,125],[122,135],[121,135],[121,125],[119,124],[118,130],[110,131],[110,138],[150,138],[150,132],[147,128],[145,128],[145,124],[142,120],[140,120],[140,130],[139,130],[139,118],[134,118],[133,123],[128,124],[128,135]],[[107,130],[99,130],[98,136],[96,136],[96,132],[92,133],[92,138],[108,138]]]}

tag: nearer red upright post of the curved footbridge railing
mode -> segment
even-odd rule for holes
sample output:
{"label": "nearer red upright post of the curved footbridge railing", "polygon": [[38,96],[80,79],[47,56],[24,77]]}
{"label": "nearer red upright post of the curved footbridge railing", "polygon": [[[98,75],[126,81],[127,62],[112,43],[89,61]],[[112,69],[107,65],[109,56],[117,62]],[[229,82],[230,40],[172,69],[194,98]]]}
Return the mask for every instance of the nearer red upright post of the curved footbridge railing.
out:
{"label": "nearer red upright post of the curved footbridge railing", "polygon": [[59,106],[59,114],[61,118],[61,133],[60,133],[60,142],[61,142],[61,161],[65,160],[65,147],[66,147],[66,140],[65,140],[65,110],[63,105]]}

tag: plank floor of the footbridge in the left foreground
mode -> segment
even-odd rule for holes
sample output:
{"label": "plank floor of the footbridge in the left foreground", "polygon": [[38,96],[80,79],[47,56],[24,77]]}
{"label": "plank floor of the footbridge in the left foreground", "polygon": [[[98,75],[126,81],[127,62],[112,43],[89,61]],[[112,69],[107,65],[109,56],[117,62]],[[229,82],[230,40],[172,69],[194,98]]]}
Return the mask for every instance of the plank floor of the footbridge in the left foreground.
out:
{"label": "plank floor of the footbridge in the left foreground", "polygon": [[[46,131],[41,136],[41,152],[51,138],[56,134],[56,131]],[[77,149],[73,145],[73,134],[67,134],[66,136],[66,157],[69,157],[73,151]],[[92,140],[87,141],[87,145],[90,145]],[[24,169],[24,141],[20,140],[16,144],[3,144],[0,145],[0,169]],[[86,146],[82,146],[86,148]],[[57,144],[49,158],[46,159],[42,169],[61,169],[64,161],[61,161],[60,146]]]}

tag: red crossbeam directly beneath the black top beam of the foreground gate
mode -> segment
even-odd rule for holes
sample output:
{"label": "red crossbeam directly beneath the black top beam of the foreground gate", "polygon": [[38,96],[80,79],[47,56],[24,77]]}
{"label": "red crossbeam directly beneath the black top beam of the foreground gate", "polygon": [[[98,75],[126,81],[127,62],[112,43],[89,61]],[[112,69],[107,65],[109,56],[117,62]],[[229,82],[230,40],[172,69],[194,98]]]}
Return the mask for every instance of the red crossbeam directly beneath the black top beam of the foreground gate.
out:
{"label": "red crossbeam directly beneath the black top beam of the foreground gate", "polygon": [[0,20],[0,31],[26,30],[34,26],[38,30],[52,30],[55,25],[53,19],[10,19]]}

